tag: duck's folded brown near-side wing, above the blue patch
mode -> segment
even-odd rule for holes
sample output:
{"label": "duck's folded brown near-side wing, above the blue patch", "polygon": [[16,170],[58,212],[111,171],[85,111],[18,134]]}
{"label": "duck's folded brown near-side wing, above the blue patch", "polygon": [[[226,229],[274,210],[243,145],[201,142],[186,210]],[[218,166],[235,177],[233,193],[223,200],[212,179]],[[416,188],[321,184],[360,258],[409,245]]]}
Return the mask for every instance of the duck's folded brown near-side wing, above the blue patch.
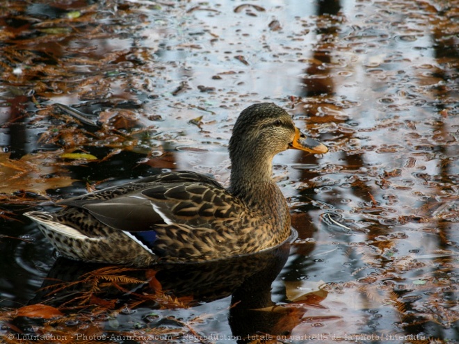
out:
{"label": "duck's folded brown near-side wing, above the blue patch", "polygon": [[[194,178],[194,175],[191,177]],[[241,200],[213,179],[210,180],[209,183],[184,182],[184,179],[177,182],[172,181],[172,177],[161,177],[159,180],[125,185],[124,189],[129,188],[130,191],[121,195],[119,188],[115,188],[111,193],[118,195],[109,199],[102,199],[100,193],[108,190],[101,190],[89,198],[81,197],[62,204],[84,208],[100,222],[122,231],[151,231],[165,224],[210,229],[215,221],[233,219],[245,211]]]}

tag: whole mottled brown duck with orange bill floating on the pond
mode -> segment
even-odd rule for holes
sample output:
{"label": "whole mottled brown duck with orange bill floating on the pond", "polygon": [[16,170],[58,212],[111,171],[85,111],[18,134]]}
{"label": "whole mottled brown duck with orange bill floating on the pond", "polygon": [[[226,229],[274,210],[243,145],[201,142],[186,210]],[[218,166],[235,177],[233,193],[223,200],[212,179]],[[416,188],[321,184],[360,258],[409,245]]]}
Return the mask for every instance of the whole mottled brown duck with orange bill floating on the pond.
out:
{"label": "whole mottled brown duck with orange bill floating on the pond", "polygon": [[287,202],[272,179],[273,157],[286,149],[314,154],[275,104],[245,108],[230,138],[230,186],[195,172],[169,172],[57,202],[56,213],[24,215],[70,259],[147,266],[259,252],[291,233]]}

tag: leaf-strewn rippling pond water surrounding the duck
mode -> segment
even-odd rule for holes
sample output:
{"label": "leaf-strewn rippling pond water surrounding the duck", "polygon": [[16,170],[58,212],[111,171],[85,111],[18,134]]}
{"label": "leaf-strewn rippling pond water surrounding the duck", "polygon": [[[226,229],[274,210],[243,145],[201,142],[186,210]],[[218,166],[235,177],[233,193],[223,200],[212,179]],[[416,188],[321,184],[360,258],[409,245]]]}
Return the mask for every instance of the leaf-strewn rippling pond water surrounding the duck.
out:
{"label": "leaf-strewn rippling pond water surrounding the duck", "polygon": [[[3,1],[0,336],[458,343],[458,8]],[[170,170],[227,185],[232,126],[261,101],[286,108],[330,148],[275,157],[298,231],[291,245],[208,265],[120,270],[57,258],[22,216]],[[69,284],[58,290],[56,281]],[[28,304],[49,306],[45,320],[32,321]],[[50,310],[58,320],[44,316]]]}

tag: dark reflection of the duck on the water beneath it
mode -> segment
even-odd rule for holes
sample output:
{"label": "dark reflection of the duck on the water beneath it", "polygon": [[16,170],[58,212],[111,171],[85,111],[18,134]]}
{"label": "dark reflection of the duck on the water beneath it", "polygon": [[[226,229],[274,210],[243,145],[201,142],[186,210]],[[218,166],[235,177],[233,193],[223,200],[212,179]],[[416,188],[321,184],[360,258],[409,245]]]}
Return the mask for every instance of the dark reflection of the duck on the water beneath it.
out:
{"label": "dark reflection of the duck on the water beneath it", "polygon": [[[108,281],[116,275],[111,271],[117,272],[118,269],[119,275],[147,282],[127,284],[122,288],[117,284],[106,283],[106,287],[97,292],[96,300],[115,300],[114,304],[122,306],[134,304],[139,297],[142,299],[148,295],[161,294],[168,295],[170,300],[186,300],[187,306],[198,306],[202,302],[212,302],[232,295],[228,316],[232,338],[239,339],[239,343],[248,343],[255,338],[264,338],[266,334],[273,338],[288,336],[291,329],[298,325],[303,314],[295,312],[294,308],[276,306],[271,300],[271,284],[286,263],[289,249],[290,241],[257,254],[232,259],[207,263],[154,265],[148,269],[125,268],[126,270],[119,266],[58,259],[49,272],[43,288],[31,303],[46,303],[57,308],[63,304],[72,306],[73,300],[81,301],[81,297],[76,295],[88,293],[88,286],[75,283],[67,288],[61,288],[62,282],[68,284],[81,281],[85,276],[88,281],[88,276],[97,276],[99,272],[111,274],[111,277],[105,279]],[[113,270],[110,270],[111,268]],[[103,285],[99,283],[99,286]],[[164,308],[155,300],[157,299],[151,297],[147,302],[143,302],[142,306],[152,309]],[[179,302],[174,306],[179,307]]]}

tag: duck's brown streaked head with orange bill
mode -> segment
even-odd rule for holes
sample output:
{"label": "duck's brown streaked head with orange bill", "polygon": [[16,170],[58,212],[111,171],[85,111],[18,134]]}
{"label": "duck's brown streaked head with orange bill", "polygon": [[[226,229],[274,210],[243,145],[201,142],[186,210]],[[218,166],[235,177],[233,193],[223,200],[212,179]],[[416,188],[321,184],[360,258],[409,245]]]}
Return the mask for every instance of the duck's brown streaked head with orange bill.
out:
{"label": "duck's brown streaked head with orange bill", "polygon": [[233,162],[246,157],[271,163],[275,154],[287,149],[299,149],[312,154],[328,151],[320,142],[306,138],[293,124],[287,111],[275,104],[255,104],[241,112],[230,139],[230,158]]}

